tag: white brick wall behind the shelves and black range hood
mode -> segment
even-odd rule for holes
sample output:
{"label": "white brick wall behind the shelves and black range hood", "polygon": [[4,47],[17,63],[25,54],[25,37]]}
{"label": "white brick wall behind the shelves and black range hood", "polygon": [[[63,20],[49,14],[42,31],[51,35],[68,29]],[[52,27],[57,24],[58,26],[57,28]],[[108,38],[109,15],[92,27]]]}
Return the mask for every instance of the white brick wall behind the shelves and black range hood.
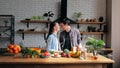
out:
{"label": "white brick wall behind the shelves and black range hood", "polygon": [[[26,29],[26,25],[20,23],[24,18],[42,15],[44,12],[53,11],[58,17],[59,3],[61,0],[0,0],[0,14],[12,14],[15,16],[15,30]],[[74,12],[82,12],[82,18],[105,17],[106,0],[68,0],[68,17],[72,19]],[[45,28],[45,24],[31,24],[30,28],[39,26],[37,30]],[[73,26],[75,27],[75,26]],[[84,27],[83,27],[84,28]],[[21,34],[15,35],[15,43],[21,41]],[[25,34],[24,46],[35,47],[45,45],[43,34]],[[6,47],[0,45],[0,47]]]}

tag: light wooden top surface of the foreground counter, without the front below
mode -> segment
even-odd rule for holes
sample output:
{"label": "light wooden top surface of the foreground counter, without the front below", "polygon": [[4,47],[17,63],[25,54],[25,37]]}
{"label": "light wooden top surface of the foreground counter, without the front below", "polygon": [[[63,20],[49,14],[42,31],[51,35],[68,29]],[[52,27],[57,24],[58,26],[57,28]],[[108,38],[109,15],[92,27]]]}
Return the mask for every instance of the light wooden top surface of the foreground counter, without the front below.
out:
{"label": "light wooden top surface of the foreground counter, without the front below", "polygon": [[87,58],[15,58],[13,56],[0,56],[0,64],[83,64],[83,63],[114,63],[113,60],[101,55],[97,60]]}

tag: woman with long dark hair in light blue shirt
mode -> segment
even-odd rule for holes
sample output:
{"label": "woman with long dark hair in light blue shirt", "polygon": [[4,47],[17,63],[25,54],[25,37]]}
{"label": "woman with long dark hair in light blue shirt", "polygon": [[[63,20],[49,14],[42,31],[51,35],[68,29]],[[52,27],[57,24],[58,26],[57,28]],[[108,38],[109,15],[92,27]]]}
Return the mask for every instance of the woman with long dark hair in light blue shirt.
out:
{"label": "woman with long dark hair in light blue shirt", "polygon": [[60,30],[60,26],[57,22],[50,24],[49,33],[47,36],[47,51],[61,51],[61,47],[57,38],[57,33]]}

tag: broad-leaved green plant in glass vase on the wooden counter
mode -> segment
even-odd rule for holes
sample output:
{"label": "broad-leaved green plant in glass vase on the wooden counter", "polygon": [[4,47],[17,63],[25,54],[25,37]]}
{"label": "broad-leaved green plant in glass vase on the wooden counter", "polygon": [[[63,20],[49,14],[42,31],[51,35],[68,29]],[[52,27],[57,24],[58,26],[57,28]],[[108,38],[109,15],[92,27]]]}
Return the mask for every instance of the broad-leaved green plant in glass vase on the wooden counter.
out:
{"label": "broad-leaved green plant in glass vase on the wooden counter", "polygon": [[89,40],[86,42],[86,45],[89,46],[90,50],[93,51],[93,56],[97,56],[98,50],[103,48],[105,42],[103,40],[97,40],[93,37],[89,37]]}

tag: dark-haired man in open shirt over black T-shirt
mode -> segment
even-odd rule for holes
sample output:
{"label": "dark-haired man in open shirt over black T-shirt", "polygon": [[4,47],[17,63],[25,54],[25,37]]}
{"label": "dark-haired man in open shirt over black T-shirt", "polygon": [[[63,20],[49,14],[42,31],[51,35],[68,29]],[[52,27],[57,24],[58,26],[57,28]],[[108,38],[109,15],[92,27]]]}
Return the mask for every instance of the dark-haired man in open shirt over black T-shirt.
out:
{"label": "dark-haired man in open shirt over black T-shirt", "polygon": [[70,21],[60,22],[63,31],[60,33],[60,44],[62,50],[68,49],[71,51],[73,47],[80,47],[80,32],[78,29],[71,28]]}

